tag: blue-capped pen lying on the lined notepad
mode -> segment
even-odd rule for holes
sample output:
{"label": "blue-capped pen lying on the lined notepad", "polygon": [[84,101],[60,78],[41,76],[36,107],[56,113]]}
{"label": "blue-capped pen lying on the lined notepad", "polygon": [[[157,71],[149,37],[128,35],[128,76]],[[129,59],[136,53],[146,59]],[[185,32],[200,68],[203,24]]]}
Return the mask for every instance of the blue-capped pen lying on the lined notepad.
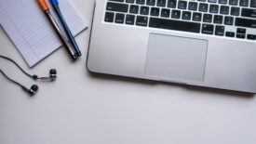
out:
{"label": "blue-capped pen lying on the lined notepad", "polygon": [[77,44],[76,44],[76,42],[75,42],[75,40],[74,40],[74,36],[73,36],[73,34],[71,33],[71,31],[70,31],[70,29],[69,29],[69,27],[68,27],[68,25],[67,25],[66,20],[64,19],[63,15],[61,14],[61,9],[60,9],[60,7],[59,7],[59,2],[58,2],[58,0],[50,0],[50,3],[51,3],[51,5],[52,5],[52,7],[54,8],[54,10],[56,11],[56,13],[57,13],[59,19],[61,20],[61,24],[62,24],[62,26],[63,26],[63,28],[64,28],[64,31],[65,31],[66,35],[68,36],[68,38],[69,38],[69,40],[70,40],[71,45],[72,45],[73,48],[74,48],[74,51],[75,51],[75,53],[76,53],[76,56],[77,56],[77,57],[80,57],[82,54],[81,54],[81,52],[80,52],[80,50],[79,50],[79,47],[77,46]]}

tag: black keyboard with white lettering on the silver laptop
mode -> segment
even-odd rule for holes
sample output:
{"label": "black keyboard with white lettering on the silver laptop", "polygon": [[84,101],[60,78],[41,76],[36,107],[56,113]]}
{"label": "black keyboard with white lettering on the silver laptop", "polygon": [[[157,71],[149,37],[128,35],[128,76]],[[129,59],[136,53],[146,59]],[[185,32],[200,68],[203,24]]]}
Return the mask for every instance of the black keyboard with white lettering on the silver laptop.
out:
{"label": "black keyboard with white lettering on the silver laptop", "polygon": [[108,0],[104,21],[256,40],[256,0]]}

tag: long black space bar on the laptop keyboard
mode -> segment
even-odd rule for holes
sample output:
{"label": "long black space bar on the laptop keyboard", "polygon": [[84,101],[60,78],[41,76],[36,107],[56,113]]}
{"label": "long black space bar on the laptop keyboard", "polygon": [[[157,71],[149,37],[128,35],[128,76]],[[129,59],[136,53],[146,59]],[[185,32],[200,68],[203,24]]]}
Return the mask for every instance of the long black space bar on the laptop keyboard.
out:
{"label": "long black space bar on the laptop keyboard", "polygon": [[149,27],[190,33],[200,33],[200,23],[189,21],[150,18]]}

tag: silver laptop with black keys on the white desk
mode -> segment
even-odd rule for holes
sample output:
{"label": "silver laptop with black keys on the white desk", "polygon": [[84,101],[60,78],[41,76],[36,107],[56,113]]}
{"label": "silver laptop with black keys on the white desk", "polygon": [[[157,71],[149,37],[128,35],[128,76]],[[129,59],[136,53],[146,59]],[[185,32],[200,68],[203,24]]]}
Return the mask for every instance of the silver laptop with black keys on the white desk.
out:
{"label": "silver laptop with black keys on the white desk", "polygon": [[96,0],[89,72],[256,92],[256,0]]}

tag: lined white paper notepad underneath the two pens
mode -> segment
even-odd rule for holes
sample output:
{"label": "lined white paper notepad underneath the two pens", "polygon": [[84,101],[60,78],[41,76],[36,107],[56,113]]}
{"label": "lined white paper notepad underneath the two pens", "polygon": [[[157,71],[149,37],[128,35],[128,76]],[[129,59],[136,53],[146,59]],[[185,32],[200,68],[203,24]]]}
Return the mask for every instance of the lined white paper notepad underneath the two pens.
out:
{"label": "lined white paper notepad underneath the two pens", "polygon": [[[60,8],[74,35],[87,28],[68,0],[61,0]],[[51,13],[59,22],[54,10]],[[30,67],[62,45],[36,0],[0,0],[0,23]]]}

